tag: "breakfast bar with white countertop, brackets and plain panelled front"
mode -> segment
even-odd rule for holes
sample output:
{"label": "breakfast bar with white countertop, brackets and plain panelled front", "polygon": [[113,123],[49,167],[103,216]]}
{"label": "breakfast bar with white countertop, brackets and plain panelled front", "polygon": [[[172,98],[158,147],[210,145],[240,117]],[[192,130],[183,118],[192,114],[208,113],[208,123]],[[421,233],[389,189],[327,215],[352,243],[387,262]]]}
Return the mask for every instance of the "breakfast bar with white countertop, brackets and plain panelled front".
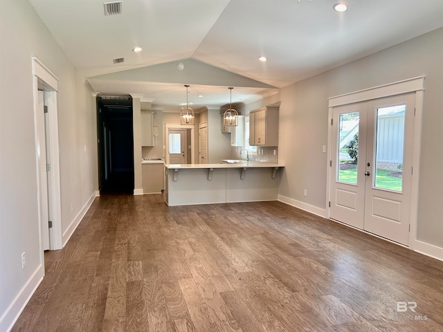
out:
{"label": "breakfast bar with white countertop, brackets and plain panelled front", "polygon": [[166,164],[165,200],[170,206],[275,201],[277,163],[240,161],[220,164]]}

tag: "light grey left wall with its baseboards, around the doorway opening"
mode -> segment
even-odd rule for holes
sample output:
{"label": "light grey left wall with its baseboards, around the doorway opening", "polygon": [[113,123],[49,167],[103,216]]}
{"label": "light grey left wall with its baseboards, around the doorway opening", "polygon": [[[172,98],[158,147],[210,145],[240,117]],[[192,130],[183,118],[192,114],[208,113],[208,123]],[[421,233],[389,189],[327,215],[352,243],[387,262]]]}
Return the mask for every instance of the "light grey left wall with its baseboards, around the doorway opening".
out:
{"label": "light grey left wall with its baseboards, around the doorway opening", "polygon": [[31,57],[59,79],[64,241],[93,199],[97,157],[90,91],[33,7],[26,0],[2,0],[0,25],[0,331],[8,331],[42,277]]}

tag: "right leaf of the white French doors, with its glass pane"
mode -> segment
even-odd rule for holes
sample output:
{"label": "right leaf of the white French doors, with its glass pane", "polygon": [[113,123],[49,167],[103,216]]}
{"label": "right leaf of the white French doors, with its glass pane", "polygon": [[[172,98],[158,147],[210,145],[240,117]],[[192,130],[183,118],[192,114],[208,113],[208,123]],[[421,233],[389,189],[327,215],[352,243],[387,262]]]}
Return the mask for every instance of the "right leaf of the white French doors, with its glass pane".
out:
{"label": "right leaf of the white French doors, with its glass pane", "polygon": [[368,103],[365,230],[408,245],[415,94]]}

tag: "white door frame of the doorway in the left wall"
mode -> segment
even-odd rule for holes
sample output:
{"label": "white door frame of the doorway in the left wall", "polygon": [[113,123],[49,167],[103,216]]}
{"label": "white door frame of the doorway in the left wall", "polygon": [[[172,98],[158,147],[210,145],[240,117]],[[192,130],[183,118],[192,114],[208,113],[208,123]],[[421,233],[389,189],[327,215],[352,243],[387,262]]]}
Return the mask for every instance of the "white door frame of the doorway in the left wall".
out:
{"label": "white door frame of the doorway in the left wall", "polygon": [[[39,221],[39,243],[40,243],[40,255],[42,264],[44,262],[44,250],[43,250],[43,234],[42,228],[46,221],[43,218],[42,196],[46,195],[45,186],[42,182],[41,174],[46,172],[42,171],[46,169],[46,158],[43,160],[40,151],[46,148],[46,138],[41,135],[42,126],[44,126],[44,113],[39,112],[39,89],[44,91],[48,106],[48,130],[51,133],[49,135],[49,147],[51,160],[51,187],[48,187],[48,191],[51,191],[52,206],[51,212],[53,216],[53,227],[50,228],[49,233],[49,249],[57,250],[63,248],[62,241],[62,201],[61,201],[61,185],[60,185],[60,148],[58,141],[58,116],[57,116],[57,89],[58,78],[51,71],[42,64],[36,57],[32,57],[32,73],[33,73],[33,95],[34,95],[34,127],[35,127],[35,163],[37,165],[37,203],[38,203],[38,221]],[[44,132],[44,131],[43,131]]]}

